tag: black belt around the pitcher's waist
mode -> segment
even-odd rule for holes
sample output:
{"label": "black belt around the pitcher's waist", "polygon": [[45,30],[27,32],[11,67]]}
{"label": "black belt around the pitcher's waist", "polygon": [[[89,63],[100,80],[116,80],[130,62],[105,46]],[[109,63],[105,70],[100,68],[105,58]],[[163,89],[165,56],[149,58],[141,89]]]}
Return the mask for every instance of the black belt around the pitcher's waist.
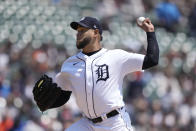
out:
{"label": "black belt around the pitcher's waist", "polygon": [[[120,110],[123,109],[123,107],[119,108]],[[93,123],[98,123],[98,122],[102,122],[103,120],[107,119],[107,118],[111,118],[115,115],[118,115],[119,114],[119,111],[117,109],[103,115],[103,116],[100,116],[100,117],[97,117],[97,118],[94,118],[94,119],[90,119],[88,118],[90,121],[92,121]]]}

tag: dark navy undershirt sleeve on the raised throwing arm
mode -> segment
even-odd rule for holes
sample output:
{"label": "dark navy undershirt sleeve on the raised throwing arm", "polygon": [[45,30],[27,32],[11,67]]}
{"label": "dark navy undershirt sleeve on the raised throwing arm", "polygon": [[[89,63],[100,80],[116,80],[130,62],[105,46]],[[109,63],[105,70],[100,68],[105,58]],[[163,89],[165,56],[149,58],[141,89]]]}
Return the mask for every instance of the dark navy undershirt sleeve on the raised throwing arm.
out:
{"label": "dark navy undershirt sleeve on the raised throwing arm", "polygon": [[155,32],[147,32],[147,53],[144,57],[142,69],[148,69],[156,66],[159,62],[159,46]]}

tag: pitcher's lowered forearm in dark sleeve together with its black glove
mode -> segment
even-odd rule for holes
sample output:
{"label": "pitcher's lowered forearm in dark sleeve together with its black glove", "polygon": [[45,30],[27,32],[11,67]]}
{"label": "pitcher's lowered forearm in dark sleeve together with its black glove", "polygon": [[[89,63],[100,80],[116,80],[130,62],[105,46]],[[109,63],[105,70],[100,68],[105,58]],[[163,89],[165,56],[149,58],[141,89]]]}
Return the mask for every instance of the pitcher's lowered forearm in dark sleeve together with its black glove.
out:
{"label": "pitcher's lowered forearm in dark sleeve together with its black glove", "polygon": [[62,90],[52,81],[52,78],[43,75],[33,88],[33,96],[37,106],[43,112],[65,104],[71,96],[71,91]]}

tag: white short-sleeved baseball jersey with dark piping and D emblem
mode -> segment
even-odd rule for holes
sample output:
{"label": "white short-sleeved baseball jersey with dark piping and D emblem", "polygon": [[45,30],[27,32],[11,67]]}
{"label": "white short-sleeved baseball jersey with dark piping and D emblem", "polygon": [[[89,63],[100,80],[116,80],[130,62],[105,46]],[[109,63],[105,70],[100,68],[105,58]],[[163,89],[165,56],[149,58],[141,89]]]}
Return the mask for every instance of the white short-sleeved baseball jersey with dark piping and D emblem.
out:
{"label": "white short-sleeved baseball jersey with dark piping and D emblem", "polygon": [[96,118],[124,106],[122,84],[126,74],[141,71],[144,55],[102,48],[87,56],[68,58],[56,76],[57,84],[72,91],[84,115]]}

